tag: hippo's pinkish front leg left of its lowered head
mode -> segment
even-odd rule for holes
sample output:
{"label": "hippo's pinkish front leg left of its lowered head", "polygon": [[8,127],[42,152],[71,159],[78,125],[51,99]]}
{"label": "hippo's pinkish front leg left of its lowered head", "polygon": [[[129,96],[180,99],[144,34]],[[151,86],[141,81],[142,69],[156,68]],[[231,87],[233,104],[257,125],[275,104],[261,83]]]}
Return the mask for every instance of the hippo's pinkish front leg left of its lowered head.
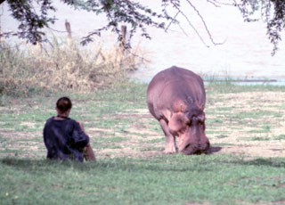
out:
{"label": "hippo's pinkish front leg left of its lowered head", "polygon": [[160,127],[162,128],[164,135],[166,135],[166,149],[165,153],[173,154],[176,152],[175,136],[169,132],[167,122],[164,119],[159,120]]}

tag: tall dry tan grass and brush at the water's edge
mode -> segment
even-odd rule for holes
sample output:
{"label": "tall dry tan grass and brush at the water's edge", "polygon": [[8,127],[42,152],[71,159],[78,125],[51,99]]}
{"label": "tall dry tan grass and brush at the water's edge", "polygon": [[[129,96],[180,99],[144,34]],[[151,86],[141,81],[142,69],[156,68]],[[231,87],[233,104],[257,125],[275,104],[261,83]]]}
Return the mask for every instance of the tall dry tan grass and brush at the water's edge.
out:
{"label": "tall dry tan grass and brush at the water's edge", "polygon": [[90,92],[111,87],[128,78],[143,58],[139,46],[123,52],[118,46],[88,47],[76,41],[47,45],[0,46],[0,94],[27,96],[48,91]]}

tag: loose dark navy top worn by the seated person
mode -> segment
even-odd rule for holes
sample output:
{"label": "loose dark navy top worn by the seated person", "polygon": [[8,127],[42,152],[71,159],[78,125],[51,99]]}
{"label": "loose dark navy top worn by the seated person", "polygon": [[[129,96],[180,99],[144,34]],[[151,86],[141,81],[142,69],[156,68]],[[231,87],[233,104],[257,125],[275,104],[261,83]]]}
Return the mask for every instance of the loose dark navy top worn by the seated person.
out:
{"label": "loose dark navy top worn by the seated person", "polygon": [[49,159],[83,161],[83,149],[89,143],[89,136],[76,120],[52,117],[45,122],[44,142]]}

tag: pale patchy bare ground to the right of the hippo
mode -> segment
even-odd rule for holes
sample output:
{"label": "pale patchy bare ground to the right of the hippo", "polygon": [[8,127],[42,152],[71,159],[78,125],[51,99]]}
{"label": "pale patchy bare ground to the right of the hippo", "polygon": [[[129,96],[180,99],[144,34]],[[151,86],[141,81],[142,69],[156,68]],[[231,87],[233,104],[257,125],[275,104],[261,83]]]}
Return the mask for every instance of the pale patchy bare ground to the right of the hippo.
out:
{"label": "pale patchy bare ground to the right of the hippo", "polygon": [[285,157],[285,93],[245,92],[218,98],[206,113],[208,119],[218,114],[221,121],[208,126],[210,142],[221,144],[219,153]]}

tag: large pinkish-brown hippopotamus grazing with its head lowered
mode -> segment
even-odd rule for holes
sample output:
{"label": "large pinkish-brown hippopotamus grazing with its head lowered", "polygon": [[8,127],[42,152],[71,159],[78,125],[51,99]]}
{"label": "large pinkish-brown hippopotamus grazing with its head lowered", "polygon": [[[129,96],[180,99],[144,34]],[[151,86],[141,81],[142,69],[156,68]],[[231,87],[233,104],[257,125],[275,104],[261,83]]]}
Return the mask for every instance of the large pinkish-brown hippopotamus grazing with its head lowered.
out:
{"label": "large pinkish-brown hippopotamus grazing with its head lowered", "polygon": [[191,70],[171,67],[151,79],[147,104],[151,115],[159,120],[166,136],[166,153],[207,153],[210,147],[205,135],[206,93],[202,78]]}

